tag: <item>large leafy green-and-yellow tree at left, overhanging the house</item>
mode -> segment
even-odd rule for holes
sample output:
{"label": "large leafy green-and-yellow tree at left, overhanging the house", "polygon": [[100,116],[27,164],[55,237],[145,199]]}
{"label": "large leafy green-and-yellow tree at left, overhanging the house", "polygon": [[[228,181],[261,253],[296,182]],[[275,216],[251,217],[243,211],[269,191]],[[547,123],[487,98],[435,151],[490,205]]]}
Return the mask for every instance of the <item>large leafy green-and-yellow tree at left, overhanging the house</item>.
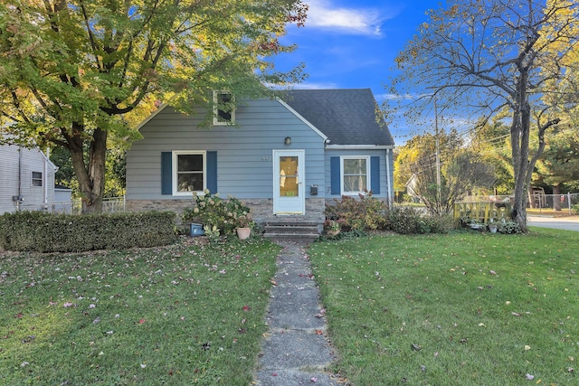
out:
{"label": "large leafy green-and-yellow tree at left, overhanging the house", "polygon": [[68,149],[83,212],[98,212],[111,136],[137,138],[128,122],[157,99],[211,112],[212,89],[256,97],[299,80],[300,67],[276,72],[267,58],[293,49],[279,38],[306,10],[300,0],[5,0],[0,127]]}

